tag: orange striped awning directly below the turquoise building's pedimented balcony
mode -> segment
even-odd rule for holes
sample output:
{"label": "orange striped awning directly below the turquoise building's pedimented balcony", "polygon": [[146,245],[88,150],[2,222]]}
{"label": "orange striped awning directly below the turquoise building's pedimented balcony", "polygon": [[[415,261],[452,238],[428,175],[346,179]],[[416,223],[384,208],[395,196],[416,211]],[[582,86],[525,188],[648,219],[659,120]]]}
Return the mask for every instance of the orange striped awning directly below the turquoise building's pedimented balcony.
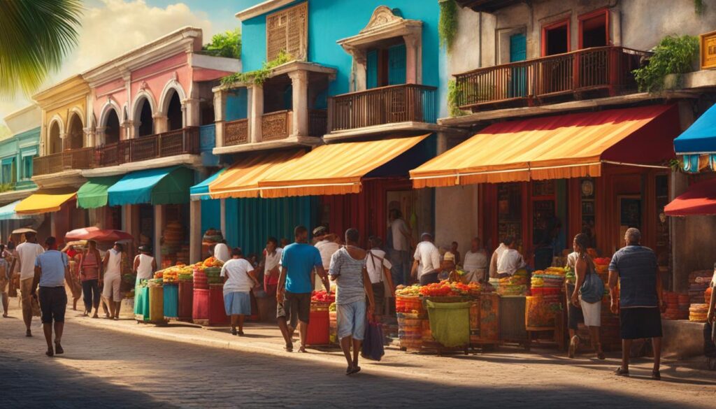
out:
{"label": "orange striped awning directly below the turquoise building's pedimented balcony", "polygon": [[360,193],[362,178],[428,135],[322,145],[261,179],[261,197]]}

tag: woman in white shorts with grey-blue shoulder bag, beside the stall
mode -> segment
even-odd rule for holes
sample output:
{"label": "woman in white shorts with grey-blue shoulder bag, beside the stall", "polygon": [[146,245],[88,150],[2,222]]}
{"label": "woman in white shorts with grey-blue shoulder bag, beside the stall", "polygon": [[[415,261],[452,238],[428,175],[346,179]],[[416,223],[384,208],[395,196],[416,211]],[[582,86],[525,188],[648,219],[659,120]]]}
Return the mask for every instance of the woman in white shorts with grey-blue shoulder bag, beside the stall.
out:
{"label": "woman in white shorts with grey-blue shoulder bag, beside the stall", "polygon": [[[591,342],[591,346],[594,347],[596,351],[596,357],[600,360],[604,360],[604,352],[601,350],[601,339],[599,337],[599,327],[601,327],[601,298],[604,297],[604,283],[599,276],[596,275],[594,261],[592,261],[586,252],[588,247],[589,236],[584,233],[574,236],[574,252],[577,254],[574,266],[576,284],[572,291],[570,301],[574,307],[581,308],[582,314],[584,314],[584,324],[589,327],[589,341]],[[577,345],[579,345],[579,338],[574,340],[573,337],[569,342],[570,357],[574,357]]]}

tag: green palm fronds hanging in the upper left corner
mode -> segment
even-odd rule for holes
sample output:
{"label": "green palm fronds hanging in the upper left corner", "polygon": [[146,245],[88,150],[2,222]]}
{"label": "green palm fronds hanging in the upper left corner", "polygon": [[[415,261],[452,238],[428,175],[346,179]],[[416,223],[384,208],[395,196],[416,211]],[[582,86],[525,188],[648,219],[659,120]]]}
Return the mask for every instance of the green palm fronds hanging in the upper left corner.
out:
{"label": "green palm fronds hanging in the upper left corner", "polygon": [[77,45],[80,0],[0,0],[0,96],[31,94]]}

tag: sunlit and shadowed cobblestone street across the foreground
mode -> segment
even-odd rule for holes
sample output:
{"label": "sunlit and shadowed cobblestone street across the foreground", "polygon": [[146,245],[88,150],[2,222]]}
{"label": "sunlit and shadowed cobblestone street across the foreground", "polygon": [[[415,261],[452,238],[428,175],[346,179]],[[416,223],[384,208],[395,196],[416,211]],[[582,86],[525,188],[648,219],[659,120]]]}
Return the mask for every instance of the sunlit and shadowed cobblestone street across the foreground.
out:
{"label": "sunlit and shadowed cobblestone street across the foreground", "polygon": [[[12,300],[14,301],[14,300]],[[568,360],[553,350],[502,347],[436,357],[389,348],[381,362],[343,375],[337,350],[283,352],[276,329],[246,337],[185,324],[155,327],[67,312],[64,355],[44,355],[39,320],[24,337],[16,303],[0,318],[0,408],[714,408],[716,374],[667,362],[649,380],[606,362]]]}

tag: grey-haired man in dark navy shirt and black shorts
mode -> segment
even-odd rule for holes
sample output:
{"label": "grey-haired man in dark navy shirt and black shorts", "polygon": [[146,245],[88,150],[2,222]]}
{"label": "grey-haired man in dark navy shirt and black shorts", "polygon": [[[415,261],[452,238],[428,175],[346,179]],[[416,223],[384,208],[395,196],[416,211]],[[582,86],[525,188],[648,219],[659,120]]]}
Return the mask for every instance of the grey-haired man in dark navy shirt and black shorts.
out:
{"label": "grey-haired man in dark navy shirt and black shorts", "polygon": [[629,352],[633,340],[651,338],[654,349],[652,379],[661,380],[662,317],[659,312],[666,309],[666,304],[662,300],[657,256],[652,249],[642,246],[641,240],[642,233],[637,228],[628,228],[624,234],[626,246],[616,251],[609,263],[611,312],[619,313],[621,321],[621,367],[616,368],[615,373],[629,376]]}

